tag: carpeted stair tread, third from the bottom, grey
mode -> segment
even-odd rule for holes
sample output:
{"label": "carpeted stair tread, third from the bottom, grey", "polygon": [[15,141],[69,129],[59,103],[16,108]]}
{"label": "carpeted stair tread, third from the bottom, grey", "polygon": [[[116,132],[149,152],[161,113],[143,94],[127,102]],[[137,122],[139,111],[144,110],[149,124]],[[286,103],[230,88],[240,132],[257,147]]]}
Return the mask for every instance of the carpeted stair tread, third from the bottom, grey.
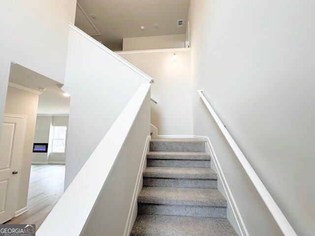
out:
{"label": "carpeted stair tread, third from the bottom, grey", "polygon": [[217,174],[210,168],[147,167],[143,177],[217,179]]}

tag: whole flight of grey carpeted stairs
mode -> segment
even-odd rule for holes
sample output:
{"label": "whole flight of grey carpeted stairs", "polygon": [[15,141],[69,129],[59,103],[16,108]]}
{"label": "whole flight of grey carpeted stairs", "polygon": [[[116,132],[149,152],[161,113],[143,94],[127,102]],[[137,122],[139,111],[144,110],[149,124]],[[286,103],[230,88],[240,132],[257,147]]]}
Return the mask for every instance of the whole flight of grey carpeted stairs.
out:
{"label": "whole flight of grey carpeted stairs", "polygon": [[130,236],[237,236],[205,143],[153,139]]}

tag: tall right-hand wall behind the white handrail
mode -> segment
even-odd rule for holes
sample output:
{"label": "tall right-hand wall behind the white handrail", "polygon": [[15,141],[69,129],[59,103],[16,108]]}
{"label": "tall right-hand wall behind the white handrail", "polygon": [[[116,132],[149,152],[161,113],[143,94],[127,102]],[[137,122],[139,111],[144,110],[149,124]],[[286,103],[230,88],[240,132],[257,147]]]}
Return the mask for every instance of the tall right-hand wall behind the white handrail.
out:
{"label": "tall right-hand wall behind the white handrail", "polygon": [[[250,235],[281,235],[205,96],[298,235],[315,232],[315,2],[191,0],[194,134],[209,136]],[[250,206],[250,207],[249,207]]]}

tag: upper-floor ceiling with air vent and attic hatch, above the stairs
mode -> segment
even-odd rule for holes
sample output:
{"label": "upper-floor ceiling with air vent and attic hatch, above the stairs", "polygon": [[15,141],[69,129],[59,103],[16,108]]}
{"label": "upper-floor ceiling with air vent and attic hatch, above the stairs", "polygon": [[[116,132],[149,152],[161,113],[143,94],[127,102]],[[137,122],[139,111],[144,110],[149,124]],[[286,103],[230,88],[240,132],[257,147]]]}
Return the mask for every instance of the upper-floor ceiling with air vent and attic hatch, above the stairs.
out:
{"label": "upper-floor ceiling with air vent and attic hatch, above the stairs", "polygon": [[[78,0],[89,19],[77,10],[75,25],[113,51],[122,50],[123,38],[181,34],[186,32],[190,0]],[[78,9],[78,7],[77,7]],[[97,16],[92,19],[91,14]],[[177,28],[177,20],[184,20]],[[159,28],[154,27],[155,24]],[[141,26],[145,30],[140,29]]]}

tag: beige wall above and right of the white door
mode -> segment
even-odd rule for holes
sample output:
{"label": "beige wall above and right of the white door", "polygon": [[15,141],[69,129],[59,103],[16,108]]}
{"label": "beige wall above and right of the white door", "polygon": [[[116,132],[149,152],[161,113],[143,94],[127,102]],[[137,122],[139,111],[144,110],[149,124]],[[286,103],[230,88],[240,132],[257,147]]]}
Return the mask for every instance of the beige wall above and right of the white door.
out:
{"label": "beige wall above and right of the white door", "polygon": [[38,94],[7,87],[5,113],[27,116],[16,211],[27,207],[37,103]]}

